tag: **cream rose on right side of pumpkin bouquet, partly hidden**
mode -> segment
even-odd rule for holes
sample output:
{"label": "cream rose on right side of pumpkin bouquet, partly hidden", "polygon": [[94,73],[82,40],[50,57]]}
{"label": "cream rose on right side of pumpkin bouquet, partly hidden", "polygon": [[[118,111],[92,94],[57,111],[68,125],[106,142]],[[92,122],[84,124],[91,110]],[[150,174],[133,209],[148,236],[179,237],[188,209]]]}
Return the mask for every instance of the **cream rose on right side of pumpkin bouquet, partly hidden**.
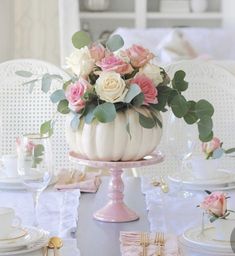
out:
{"label": "cream rose on right side of pumpkin bouquet, partly hidden", "polygon": [[161,69],[154,64],[146,64],[144,65],[140,71],[140,73],[145,74],[147,77],[153,80],[155,86],[158,86],[163,82],[163,78],[161,76]]}

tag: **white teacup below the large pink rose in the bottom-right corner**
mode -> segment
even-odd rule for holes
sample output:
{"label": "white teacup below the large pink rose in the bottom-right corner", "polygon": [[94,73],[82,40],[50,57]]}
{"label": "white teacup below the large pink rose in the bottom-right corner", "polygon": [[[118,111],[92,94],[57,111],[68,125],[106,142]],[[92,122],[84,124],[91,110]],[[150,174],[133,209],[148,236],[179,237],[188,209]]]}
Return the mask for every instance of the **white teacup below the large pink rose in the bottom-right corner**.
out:
{"label": "white teacup below the large pink rose in the bottom-right corner", "polygon": [[217,219],[212,224],[215,228],[214,239],[235,242],[235,238],[232,237],[232,232],[235,230],[234,213],[230,213],[226,219]]}

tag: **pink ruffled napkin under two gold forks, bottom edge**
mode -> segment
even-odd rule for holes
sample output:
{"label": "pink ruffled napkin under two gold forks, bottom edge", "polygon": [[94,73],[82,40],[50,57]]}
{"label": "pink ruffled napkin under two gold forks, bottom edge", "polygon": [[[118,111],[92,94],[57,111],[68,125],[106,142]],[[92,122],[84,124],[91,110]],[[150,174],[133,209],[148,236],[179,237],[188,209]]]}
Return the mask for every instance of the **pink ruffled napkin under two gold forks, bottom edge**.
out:
{"label": "pink ruffled napkin under two gold forks, bottom edge", "polygon": [[[158,250],[154,244],[154,233],[149,233],[149,246],[147,247],[147,256],[155,256]],[[140,232],[120,232],[121,253],[122,256],[141,255],[143,247],[140,245]],[[165,246],[163,249],[164,256],[180,256],[177,237],[174,235],[165,235]]]}

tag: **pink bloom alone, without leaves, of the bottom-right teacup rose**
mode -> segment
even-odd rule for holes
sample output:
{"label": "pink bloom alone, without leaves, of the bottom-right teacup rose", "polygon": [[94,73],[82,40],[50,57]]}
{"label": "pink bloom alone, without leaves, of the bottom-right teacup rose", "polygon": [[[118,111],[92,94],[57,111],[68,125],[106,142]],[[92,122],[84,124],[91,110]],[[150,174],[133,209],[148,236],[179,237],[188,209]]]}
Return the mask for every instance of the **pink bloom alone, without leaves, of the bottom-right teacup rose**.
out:
{"label": "pink bloom alone, without leaves, of the bottom-right teacup rose", "polygon": [[204,198],[200,207],[208,214],[222,217],[225,215],[227,210],[226,195],[223,192],[212,192]]}

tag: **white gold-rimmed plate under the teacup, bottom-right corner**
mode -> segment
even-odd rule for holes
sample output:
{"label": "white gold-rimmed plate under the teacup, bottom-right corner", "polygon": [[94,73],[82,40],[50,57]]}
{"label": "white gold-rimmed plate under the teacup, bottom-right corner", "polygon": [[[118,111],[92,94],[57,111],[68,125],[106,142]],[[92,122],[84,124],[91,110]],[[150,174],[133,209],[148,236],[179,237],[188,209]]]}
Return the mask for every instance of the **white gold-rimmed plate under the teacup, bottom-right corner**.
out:
{"label": "white gold-rimmed plate under the teacup, bottom-right corner", "polygon": [[215,252],[232,252],[231,244],[229,241],[220,241],[214,239],[215,228],[208,226],[204,230],[204,234],[201,233],[201,227],[193,227],[187,229],[183,233],[183,239],[188,242],[189,245],[207,249]]}

